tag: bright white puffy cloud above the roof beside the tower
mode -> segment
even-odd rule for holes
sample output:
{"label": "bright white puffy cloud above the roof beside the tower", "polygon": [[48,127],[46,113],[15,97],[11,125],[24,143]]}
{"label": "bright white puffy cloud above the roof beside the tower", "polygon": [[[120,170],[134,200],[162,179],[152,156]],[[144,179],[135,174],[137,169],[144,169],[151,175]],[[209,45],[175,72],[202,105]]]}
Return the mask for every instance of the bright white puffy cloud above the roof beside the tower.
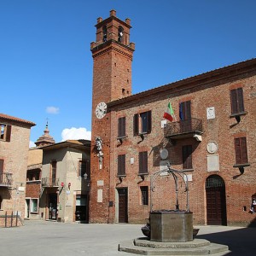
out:
{"label": "bright white puffy cloud above the roof beside the tower", "polygon": [[80,128],[66,128],[61,132],[61,138],[62,142],[67,140],[90,140],[91,138],[91,131],[87,131],[86,128],[80,127]]}

